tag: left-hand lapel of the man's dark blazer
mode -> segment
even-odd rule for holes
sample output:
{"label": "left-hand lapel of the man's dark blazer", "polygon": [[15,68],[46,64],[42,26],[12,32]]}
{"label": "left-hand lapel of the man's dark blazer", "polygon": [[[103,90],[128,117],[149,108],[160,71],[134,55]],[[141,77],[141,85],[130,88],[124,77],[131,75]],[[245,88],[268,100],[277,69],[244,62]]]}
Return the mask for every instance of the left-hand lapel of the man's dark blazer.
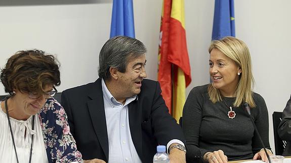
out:
{"label": "left-hand lapel of the man's dark blazer", "polygon": [[95,83],[97,87],[91,89],[91,92],[88,94],[88,96],[92,99],[88,101],[88,108],[95,133],[108,161],[109,147],[101,78],[97,79]]}

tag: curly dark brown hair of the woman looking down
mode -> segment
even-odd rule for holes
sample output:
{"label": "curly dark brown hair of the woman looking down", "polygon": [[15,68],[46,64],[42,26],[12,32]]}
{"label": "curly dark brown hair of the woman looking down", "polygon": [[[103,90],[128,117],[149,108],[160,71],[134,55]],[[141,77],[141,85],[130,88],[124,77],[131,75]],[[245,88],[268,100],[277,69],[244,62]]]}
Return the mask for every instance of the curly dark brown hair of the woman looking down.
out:
{"label": "curly dark brown hair of the woman looking down", "polygon": [[44,51],[18,51],[1,69],[0,80],[11,95],[13,90],[41,93],[47,85],[61,84],[59,66],[57,59]]}

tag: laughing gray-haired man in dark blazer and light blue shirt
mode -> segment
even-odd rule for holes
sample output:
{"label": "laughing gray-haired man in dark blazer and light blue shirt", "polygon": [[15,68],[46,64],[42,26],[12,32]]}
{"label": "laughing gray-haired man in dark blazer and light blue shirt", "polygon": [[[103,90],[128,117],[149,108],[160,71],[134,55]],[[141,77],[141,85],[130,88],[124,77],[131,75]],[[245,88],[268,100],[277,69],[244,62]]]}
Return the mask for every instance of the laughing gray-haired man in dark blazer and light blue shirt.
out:
{"label": "laughing gray-haired man in dark blazer and light blue shirt", "polygon": [[146,78],[146,47],[131,37],[110,38],[99,54],[99,79],[67,89],[62,106],[84,159],[152,162],[166,145],[171,163],[186,162],[184,136],[161,96]]}

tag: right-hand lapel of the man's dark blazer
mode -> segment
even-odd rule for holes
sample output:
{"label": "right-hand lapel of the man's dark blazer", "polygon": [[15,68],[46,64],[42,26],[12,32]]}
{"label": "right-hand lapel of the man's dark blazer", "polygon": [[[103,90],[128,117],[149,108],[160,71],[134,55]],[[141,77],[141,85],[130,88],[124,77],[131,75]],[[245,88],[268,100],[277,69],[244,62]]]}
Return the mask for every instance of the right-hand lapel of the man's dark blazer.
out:
{"label": "right-hand lapel of the man's dark blazer", "polygon": [[137,150],[137,153],[141,160],[143,159],[142,155],[142,129],[141,129],[141,114],[142,108],[139,107],[139,100],[138,97],[135,101],[132,101],[129,104],[129,121],[130,121],[130,130],[133,143]]}

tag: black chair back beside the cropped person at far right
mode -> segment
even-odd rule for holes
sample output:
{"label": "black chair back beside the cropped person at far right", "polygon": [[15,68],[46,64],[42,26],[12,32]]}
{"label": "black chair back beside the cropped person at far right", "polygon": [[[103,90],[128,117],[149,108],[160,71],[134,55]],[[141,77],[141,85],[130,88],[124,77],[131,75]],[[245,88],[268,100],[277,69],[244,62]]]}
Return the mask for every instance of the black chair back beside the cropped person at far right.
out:
{"label": "black chair back beside the cropped person at far right", "polygon": [[278,126],[282,120],[282,112],[274,112],[272,117],[273,117],[275,152],[276,152],[276,155],[282,155],[286,147],[286,141],[281,140],[281,138],[278,135]]}

